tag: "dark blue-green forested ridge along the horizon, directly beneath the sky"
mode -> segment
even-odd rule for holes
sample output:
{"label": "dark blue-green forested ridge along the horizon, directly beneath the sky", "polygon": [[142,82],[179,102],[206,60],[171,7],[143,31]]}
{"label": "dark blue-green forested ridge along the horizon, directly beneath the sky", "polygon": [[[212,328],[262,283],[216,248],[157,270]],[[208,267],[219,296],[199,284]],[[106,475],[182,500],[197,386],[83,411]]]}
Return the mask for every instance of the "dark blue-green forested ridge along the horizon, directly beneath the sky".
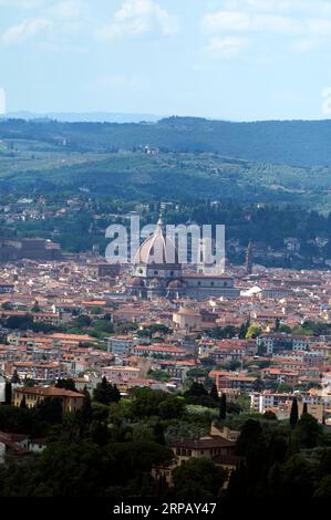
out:
{"label": "dark blue-green forested ridge along the horizon, directly beneath the sky", "polygon": [[167,117],[148,124],[0,119],[1,138],[32,139],[48,145],[63,138],[70,149],[77,152],[149,145],[164,150],[217,153],[276,165],[331,165],[330,119],[230,123]]}

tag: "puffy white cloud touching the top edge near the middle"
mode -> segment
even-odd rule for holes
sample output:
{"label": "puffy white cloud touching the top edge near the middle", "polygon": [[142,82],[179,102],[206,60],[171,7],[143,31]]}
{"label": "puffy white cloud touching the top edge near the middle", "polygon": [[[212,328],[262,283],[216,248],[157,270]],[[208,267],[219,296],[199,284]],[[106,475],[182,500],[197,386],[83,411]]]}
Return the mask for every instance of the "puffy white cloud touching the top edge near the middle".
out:
{"label": "puffy white cloud touching the top edge near the middle", "polygon": [[111,23],[99,29],[97,35],[113,40],[126,35],[137,37],[156,30],[164,35],[174,34],[177,31],[177,19],[153,0],[125,0]]}

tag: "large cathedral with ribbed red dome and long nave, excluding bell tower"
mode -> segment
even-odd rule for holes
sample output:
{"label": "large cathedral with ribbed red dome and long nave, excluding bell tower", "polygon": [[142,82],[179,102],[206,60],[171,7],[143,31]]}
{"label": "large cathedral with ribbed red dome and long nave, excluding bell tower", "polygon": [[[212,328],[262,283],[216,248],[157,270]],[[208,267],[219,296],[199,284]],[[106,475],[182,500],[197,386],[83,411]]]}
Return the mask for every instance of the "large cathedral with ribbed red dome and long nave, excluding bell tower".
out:
{"label": "large cathedral with ribbed red dome and long nave, excluding bell tower", "polygon": [[174,242],[166,237],[162,219],[139,247],[133,262],[128,293],[139,299],[236,298],[240,294],[228,274],[184,273]]}

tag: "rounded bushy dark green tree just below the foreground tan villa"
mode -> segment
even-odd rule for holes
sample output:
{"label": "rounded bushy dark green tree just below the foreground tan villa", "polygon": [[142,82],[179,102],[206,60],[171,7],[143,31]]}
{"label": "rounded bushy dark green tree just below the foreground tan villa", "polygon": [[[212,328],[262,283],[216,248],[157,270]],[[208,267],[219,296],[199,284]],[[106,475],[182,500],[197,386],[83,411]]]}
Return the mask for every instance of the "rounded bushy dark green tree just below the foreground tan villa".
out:
{"label": "rounded bushy dark green tree just below the foreground tan villa", "polygon": [[189,459],[174,470],[177,497],[215,497],[219,493],[227,474],[205,457]]}

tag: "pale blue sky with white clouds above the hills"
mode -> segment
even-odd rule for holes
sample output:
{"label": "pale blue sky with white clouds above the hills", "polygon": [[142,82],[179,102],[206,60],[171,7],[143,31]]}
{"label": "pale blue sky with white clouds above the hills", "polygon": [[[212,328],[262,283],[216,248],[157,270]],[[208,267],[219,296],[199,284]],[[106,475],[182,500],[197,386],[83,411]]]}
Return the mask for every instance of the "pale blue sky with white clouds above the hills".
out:
{"label": "pale blue sky with white clouds above the hills", "polygon": [[331,118],[331,0],[0,0],[0,114]]}

